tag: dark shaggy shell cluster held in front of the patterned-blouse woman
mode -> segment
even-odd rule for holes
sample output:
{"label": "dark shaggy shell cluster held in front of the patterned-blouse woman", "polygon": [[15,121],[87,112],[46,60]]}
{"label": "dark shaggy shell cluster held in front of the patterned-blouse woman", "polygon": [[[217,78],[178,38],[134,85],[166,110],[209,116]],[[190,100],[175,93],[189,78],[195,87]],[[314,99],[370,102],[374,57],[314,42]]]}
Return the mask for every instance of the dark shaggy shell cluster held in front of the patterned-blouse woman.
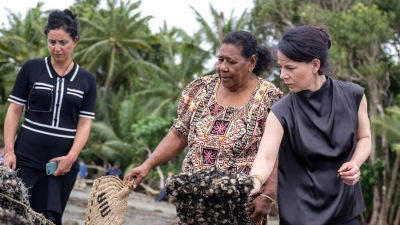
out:
{"label": "dark shaggy shell cluster held in front of the patterned-blouse woman", "polygon": [[174,176],[166,189],[176,198],[180,225],[253,224],[248,215],[253,179],[244,173],[211,167]]}

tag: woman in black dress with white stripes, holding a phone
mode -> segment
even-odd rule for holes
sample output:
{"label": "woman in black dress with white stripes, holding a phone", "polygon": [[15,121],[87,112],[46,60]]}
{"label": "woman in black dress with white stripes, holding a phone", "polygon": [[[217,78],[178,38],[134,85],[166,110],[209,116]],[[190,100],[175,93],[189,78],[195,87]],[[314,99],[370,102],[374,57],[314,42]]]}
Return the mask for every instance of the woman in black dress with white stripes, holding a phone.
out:
{"label": "woman in black dress with white stripes, holding a phone", "polygon": [[[18,169],[32,209],[62,224],[79,171],[77,158],[94,119],[96,81],[72,60],[79,40],[76,15],[68,9],[52,11],[44,33],[50,56],[28,60],[8,98],[4,165]],[[58,163],[52,175],[46,175],[48,162]]]}

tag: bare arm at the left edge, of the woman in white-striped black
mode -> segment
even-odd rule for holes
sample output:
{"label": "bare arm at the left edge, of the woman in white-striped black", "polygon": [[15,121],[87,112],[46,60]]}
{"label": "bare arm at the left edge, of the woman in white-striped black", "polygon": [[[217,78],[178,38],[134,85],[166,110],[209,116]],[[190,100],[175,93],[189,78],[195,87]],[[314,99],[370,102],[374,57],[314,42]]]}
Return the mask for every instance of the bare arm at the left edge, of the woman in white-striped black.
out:
{"label": "bare arm at the left edge, of the woman in white-striped black", "polygon": [[11,102],[4,121],[4,165],[13,170],[15,170],[17,165],[17,159],[14,154],[15,134],[17,133],[18,123],[23,110],[24,106]]}

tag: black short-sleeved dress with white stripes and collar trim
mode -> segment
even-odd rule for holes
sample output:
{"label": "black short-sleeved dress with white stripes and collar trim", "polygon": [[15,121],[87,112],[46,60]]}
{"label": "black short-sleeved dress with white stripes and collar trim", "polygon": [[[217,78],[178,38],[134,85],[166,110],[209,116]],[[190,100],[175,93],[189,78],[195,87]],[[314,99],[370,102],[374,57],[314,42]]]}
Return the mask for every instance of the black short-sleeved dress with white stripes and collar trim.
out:
{"label": "black short-sleeved dress with white stripes and collar trim", "polygon": [[94,119],[96,80],[76,63],[59,76],[50,57],[27,61],[8,101],[25,106],[25,119],[15,141],[18,176],[29,190],[33,210],[63,214],[79,165],[64,176],[46,175],[46,163],[70,151],[80,117]]}

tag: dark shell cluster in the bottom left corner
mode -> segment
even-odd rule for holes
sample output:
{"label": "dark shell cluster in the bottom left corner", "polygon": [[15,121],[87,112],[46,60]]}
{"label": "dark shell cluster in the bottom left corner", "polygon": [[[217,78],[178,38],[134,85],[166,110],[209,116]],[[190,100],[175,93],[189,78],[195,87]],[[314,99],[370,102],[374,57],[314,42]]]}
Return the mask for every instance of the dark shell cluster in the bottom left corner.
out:
{"label": "dark shell cluster in the bottom left corner", "polygon": [[0,164],[0,221],[1,225],[54,225],[42,214],[29,207],[28,189],[17,172]]}

